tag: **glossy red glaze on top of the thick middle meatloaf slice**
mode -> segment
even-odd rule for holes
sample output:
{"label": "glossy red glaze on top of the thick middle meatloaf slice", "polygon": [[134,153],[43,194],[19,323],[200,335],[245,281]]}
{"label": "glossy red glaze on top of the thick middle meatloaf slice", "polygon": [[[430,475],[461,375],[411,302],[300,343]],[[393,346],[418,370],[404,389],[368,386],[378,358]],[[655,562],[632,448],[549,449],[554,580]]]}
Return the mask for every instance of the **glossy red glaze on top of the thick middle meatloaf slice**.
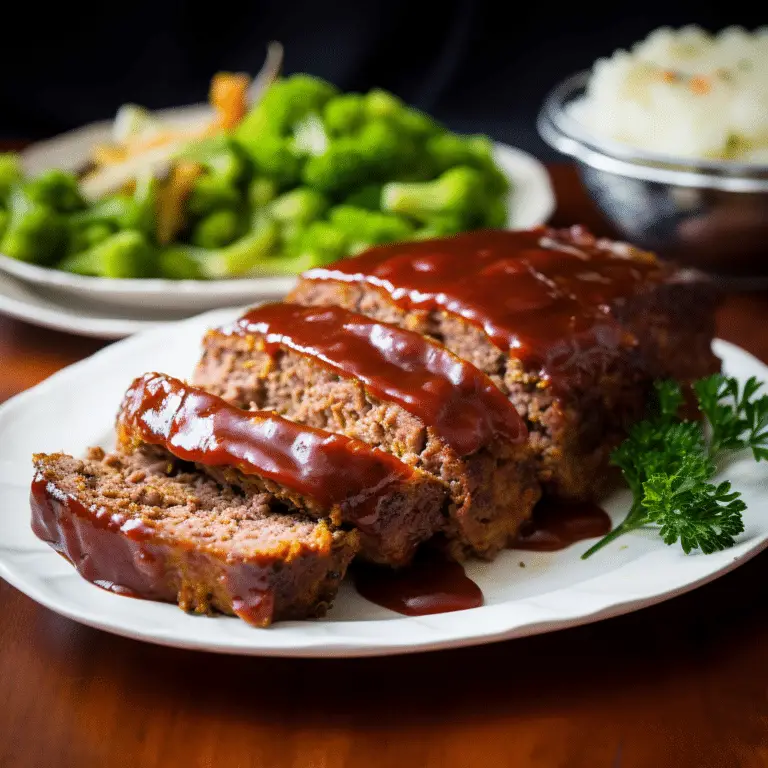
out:
{"label": "glossy red glaze on top of the thick middle meatloaf slice", "polygon": [[258,334],[270,354],[288,347],[359,379],[381,400],[419,417],[461,456],[496,435],[526,438],[515,407],[485,374],[421,334],[339,307],[295,304],[257,307],[220,333]]}

